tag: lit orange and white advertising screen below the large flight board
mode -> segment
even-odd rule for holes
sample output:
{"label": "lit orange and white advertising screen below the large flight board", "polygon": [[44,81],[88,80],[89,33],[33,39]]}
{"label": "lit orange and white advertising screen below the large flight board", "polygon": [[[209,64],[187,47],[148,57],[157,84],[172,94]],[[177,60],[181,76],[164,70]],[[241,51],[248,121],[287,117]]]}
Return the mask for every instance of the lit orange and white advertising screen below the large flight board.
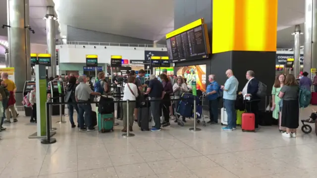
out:
{"label": "lit orange and white advertising screen below the large flight board", "polygon": [[181,75],[187,79],[187,84],[196,81],[197,90],[206,92],[206,65],[190,65],[176,68],[177,75]]}

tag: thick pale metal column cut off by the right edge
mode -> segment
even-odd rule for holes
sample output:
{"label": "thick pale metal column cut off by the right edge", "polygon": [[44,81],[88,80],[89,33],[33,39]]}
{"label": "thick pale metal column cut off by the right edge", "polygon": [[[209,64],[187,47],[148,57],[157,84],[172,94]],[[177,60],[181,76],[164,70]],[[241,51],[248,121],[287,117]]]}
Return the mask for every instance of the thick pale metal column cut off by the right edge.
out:
{"label": "thick pale metal column cut off by the right edge", "polygon": [[317,0],[305,0],[304,71],[317,68]]}

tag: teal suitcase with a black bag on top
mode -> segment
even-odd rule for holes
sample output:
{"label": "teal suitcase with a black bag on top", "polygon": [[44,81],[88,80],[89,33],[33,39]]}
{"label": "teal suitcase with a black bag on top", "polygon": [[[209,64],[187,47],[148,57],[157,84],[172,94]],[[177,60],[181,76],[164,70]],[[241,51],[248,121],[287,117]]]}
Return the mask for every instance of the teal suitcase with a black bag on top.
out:
{"label": "teal suitcase with a black bag on top", "polygon": [[98,113],[98,131],[105,133],[113,131],[114,116],[113,114]]}

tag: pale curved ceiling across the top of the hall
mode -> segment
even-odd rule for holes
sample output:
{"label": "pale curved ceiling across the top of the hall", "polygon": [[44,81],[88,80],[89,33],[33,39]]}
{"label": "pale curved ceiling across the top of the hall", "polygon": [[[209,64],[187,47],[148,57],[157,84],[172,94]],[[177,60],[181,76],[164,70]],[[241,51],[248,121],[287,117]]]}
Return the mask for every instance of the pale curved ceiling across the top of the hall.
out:
{"label": "pale curved ceiling across the top of the hall", "polygon": [[[159,41],[174,29],[174,0],[29,0],[31,42],[46,44],[46,6],[54,5],[61,36],[66,26]],[[304,0],[278,0],[277,48],[292,48],[291,33],[305,22]],[[6,24],[6,0],[0,1],[0,24]],[[58,23],[56,22],[56,29]],[[256,30],[256,28],[255,28]],[[57,31],[57,30],[56,30]],[[58,32],[58,31],[57,31]],[[0,40],[7,30],[0,29]],[[303,44],[304,37],[302,38]],[[1,48],[1,47],[0,47]],[[0,55],[3,49],[0,49]]]}

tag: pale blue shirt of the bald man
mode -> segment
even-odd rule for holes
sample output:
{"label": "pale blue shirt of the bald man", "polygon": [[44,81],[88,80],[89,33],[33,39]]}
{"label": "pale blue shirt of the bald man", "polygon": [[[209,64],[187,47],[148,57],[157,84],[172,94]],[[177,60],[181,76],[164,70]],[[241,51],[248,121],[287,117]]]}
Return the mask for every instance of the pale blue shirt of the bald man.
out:
{"label": "pale blue shirt of the bald man", "polygon": [[231,76],[224,83],[223,99],[236,100],[239,82],[235,76]]}

